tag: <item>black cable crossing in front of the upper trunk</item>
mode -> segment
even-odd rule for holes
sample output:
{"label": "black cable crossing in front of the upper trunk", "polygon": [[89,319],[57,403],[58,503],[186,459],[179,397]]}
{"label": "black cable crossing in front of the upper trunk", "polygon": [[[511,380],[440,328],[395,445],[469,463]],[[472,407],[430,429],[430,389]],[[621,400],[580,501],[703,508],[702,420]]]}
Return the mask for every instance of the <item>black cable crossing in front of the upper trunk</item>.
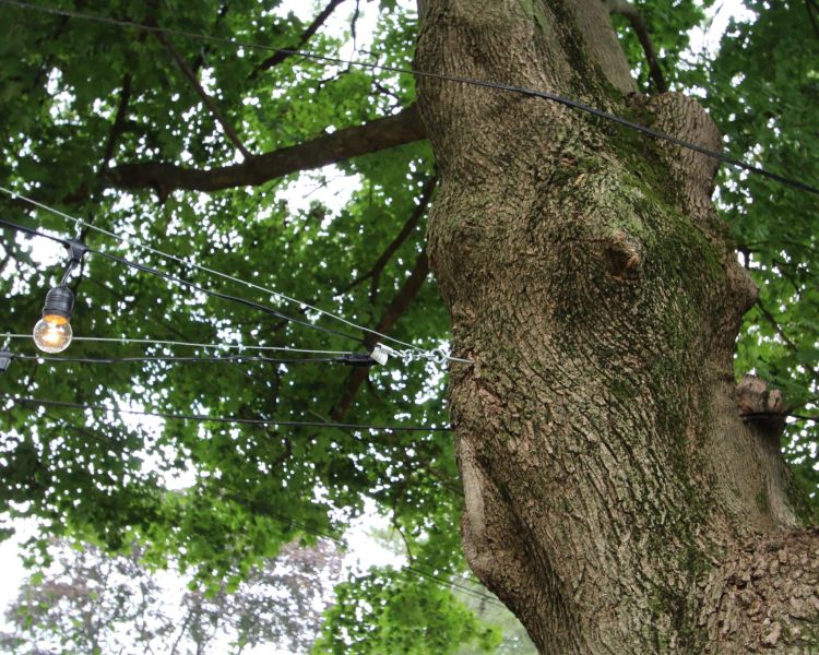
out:
{"label": "black cable crossing in front of the upper trunk", "polygon": [[[126,21],[121,19],[112,19],[108,16],[99,16],[94,14],[86,14],[82,12],[76,11],[69,11],[63,9],[58,9],[55,7],[47,7],[43,4],[31,4],[28,2],[21,2],[19,0],[0,0],[0,4],[5,4],[9,7],[15,7],[19,9],[25,9],[29,11],[38,11],[41,13],[49,13],[52,15],[59,15],[63,17],[70,17],[70,19],[78,19],[82,21],[88,21],[88,22],[95,22],[95,23],[103,23],[108,25],[115,25],[118,27],[126,27],[129,29],[138,29],[140,32],[149,32],[149,33],[157,33],[157,34],[169,34],[174,36],[181,36],[185,38],[191,38],[197,40],[202,40],[206,43],[213,43],[213,44],[226,44],[230,45],[236,48],[248,48],[248,49],[256,49],[256,50],[263,50],[268,52],[277,52],[281,55],[286,55],[288,57],[302,57],[305,59],[311,59],[313,61],[323,61],[327,63],[334,63],[339,66],[347,66],[347,67],[357,67],[363,69],[369,69],[369,70],[379,70],[379,71],[385,71],[385,72],[392,72],[392,73],[399,73],[399,74],[406,74],[406,75],[413,75],[415,78],[425,78],[429,80],[438,80],[441,82],[452,82],[456,84],[466,84],[470,86],[480,86],[484,88],[494,88],[496,91],[501,91],[506,93],[514,93],[523,96],[529,97],[536,97],[546,99],[553,103],[558,103],[560,105],[563,105],[566,107],[570,107],[572,109],[577,109],[579,111],[583,111],[585,114],[590,114],[592,116],[596,116],[597,118],[602,118],[604,120],[608,120],[610,122],[618,123],[625,128],[628,128],[630,130],[634,130],[637,132],[640,132],[642,134],[645,134],[648,136],[652,136],[654,139],[658,139],[661,141],[667,141],[668,143],[673,143],[675,145],[678,145],[680,147],[695,151],[697,153],[700,153],[701,155],[704,155],[707,157],[710,157],[712,159],[717,159],[724,164],[728,164],[731,166],[734,166],[736,168],[746,170],[748,172],[751,172],[753,175],[759,175],[762,177],[767,177],[775,182],[779,182],[781,184],[786,184],[788,187],[792,187],[794,189],[798,189],[800,191],[805,191],[807,193],[814,193],[816,195],[819,195],[819,188],[812,187],[810,184],[807,184],[805,182],[802,182],[799,180],[794,180],[791,178],[787,178],[785,176],[778,175],[775,172],[771,172],[769,170],[765,170],[764,168],[760,166],[756,166],[753,164],[747,164],[746,162],[743,162],[741,159],[735,159],[733,157],[728,157],[727,155],[724,155],[722,153],[717,153],[715,151],[712,151],[710,148],[707,148],[702,145],[699,145],[697,143],[691,143],[689,141],[684,141],[681,139],[677,139],[676,136],[673,136],[670,134],[667,134],[665,132],[661,132],[658,130],[654,130],[652,128],[648,128],[645,126],[641,126],[640,123],[636,123],[633,121],[630,121],[626,118],[622,118],[620,116],[617,116],[615,114],[610,114],[608,111],[603,111],[602,109],[597,109],[595,107],[592,107],[591,105],[586,105],[584,103],[581,103],[579,100],[573,100],[571,98],[567,98],[565,96],[550,93],[548,91],[541,91],[536,88],[529,88],[525,86],[515,86],[512,84],[502,84],[500,82],[490,82],[487,80],[477,80],[473,78],[459,78],[453,75],[446,75],[443,73],[436,73],[431,71],[419,71],[415,69],[407,69],[402,67],[394,67],[394,66],[388,66],[388,64],[381,64],[381,63],[371,63],[368,61],[360,61],[360,60],[348,60],[348,59],[342,59],[340,57],[331,57],[328,55],[319,55],[317,52],[310,52],[306,50],[292,50],[287,48],[275,48],[273,46],[268,46],[264,44],[259,44],[254,41],[246,41],[246,40],[239,40],[239,39],[233,39],[233,38],[223,38],[218,36],[211,36],[207,34],[201,34],[195,32],[188,32],[185,29],[174,29],[174,28],[165,28],[165,27],[158,27],[156,25],[143,25],[141,23],[135,23],[133,21]],[[336,317],[337,318],[337,317]]]}

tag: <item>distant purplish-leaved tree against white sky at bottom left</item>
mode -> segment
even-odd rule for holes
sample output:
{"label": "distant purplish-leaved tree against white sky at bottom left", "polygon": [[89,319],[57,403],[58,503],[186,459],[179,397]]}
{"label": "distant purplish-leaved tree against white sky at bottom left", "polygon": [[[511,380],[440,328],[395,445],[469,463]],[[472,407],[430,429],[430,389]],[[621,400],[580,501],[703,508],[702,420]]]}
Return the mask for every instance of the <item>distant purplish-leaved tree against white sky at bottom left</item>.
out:
{"label": "distant purplish-leaved tree against white sky at bottom left", "polygon": [[9,653],[242,653],[260,645],[305,653],[341,569],[331,541],[290,544],[232,593],[205,596],[146,569],[139,548],[118,557],[66,543],[54,550],[54,564],[31,575],[8,609]]}

